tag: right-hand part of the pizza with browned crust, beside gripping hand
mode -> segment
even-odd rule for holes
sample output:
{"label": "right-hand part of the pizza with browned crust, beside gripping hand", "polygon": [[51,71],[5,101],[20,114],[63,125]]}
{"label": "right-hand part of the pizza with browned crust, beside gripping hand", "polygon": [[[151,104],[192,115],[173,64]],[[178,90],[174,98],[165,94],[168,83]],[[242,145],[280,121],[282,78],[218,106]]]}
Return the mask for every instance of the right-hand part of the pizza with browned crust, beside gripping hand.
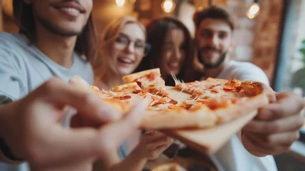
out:
{"label": "right-hand part of the pizza with browned crust, beside gripping hand", "polygon": [[176,82],[176,88],[190,94],[183,103],[188,106],[202,103],[218,117],[218,124],[275,101],[272,88],[257,81],[237,81],[207,78],[192,83]]}

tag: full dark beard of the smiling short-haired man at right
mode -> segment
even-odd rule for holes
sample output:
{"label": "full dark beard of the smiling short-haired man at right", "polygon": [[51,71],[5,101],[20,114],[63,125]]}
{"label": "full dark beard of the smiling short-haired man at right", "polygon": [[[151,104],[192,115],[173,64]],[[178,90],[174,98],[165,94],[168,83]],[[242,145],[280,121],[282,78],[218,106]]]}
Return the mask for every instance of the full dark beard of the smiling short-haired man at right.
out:
{"label": "full dark beard of the smiling short-haired man at right", "polygon": [[[203,56],[201,55],[201,52],[205,51],[205,50],[218,51],[218,53],[220,53],[220,58],[218,59],[218,61],[216,61],[215,63],[207,63],[204,60]],[[223,61],[225,61],[225,57],[227,56],[227,53],[228,53],[228,51],[225,51],[225,52],[222,53],[219,49],[217,49],[215,47],[205,46],[205,47],[200,48],[198,50],[198,60],[199,60],[200,63],[203,64],[203,66],[205,68],[218,68],[218,66],[220,66],[223,63]]]}

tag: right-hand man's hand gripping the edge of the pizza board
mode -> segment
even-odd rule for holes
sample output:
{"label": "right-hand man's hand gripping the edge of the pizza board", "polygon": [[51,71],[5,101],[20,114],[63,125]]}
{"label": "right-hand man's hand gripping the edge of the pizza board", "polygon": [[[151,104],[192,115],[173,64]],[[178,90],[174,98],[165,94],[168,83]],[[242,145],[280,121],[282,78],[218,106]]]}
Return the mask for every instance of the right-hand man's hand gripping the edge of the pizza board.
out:
{"label": "right-hand man's hand gripping the edge of the pizza board", "polygon": [[259,110],[257,117],[242,128],[242,143],[258,157],[277,155],[289,150],[299,139],[304,125],[301,110],[304,100],[294,93],[278,93],[277,102]]}

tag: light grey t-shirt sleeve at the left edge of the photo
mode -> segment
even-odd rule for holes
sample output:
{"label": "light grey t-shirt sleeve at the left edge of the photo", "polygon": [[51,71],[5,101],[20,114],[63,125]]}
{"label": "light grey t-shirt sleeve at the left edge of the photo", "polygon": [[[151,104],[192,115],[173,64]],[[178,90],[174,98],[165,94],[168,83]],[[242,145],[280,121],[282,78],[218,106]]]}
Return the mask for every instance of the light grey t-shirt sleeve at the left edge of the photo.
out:
{"label": "light grey t-shirt sleeve at the left edge of the photo", "polygon": [[18,58],[13,53],[11,48],[0,44],[0,95],[16,100],[21,98],[23,84]]}

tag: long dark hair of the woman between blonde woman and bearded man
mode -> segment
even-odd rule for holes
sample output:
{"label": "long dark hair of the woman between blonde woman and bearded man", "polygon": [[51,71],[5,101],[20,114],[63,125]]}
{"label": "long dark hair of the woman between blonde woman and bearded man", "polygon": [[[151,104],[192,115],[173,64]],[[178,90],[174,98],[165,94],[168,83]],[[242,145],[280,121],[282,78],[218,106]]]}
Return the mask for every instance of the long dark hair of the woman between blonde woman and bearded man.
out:
{"label": "long dark hair of the woman between blonde woman and bearded man", "polygon": [[[188,28],[171,17],[165,17],[161,19],[155,19],[146,26],[147,31],[147,42],[151,45],[151,50],[147,56],[143,58],[140,65],[134,72],[144,71],[152,68],[160,68],[161,63],[164,62],[162,59],[162,52],[164,51],[165,38],[168,31],[171,29],[179,28],[183,31],[185,37],[185,51],[186,58],[181,66],[180,73],[176,76],[185,82],[195,81],[196,73],[194,70],[194,46],[193,38]],[[167,76],[165,79],[167,86],[174,86],[174,81],[171,76]]]}

